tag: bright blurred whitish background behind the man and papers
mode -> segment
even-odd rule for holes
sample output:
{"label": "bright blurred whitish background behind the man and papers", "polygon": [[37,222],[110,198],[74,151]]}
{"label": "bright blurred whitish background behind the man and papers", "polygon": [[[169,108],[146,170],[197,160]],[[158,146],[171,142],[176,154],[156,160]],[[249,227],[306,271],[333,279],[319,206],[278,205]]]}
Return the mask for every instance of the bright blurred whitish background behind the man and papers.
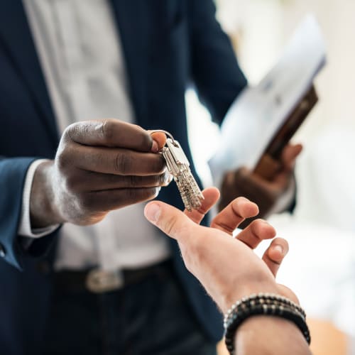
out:
{"label": "bright blurred whitish background behind the man and papers", "polygon": [[[270,222],[289,241],[278,281],[300,297],[315,355],[355,354],[355,1],[216,2],[249,84],[275,64],[306,13],[322,28],[327,65],[315,82],[320,102],[293,138],[304,145],[296,168],[297,207]],[[187,112],[197,170],[211,185],[207,160],[219,147],[219,129],[193,91],[187,92]]]}

